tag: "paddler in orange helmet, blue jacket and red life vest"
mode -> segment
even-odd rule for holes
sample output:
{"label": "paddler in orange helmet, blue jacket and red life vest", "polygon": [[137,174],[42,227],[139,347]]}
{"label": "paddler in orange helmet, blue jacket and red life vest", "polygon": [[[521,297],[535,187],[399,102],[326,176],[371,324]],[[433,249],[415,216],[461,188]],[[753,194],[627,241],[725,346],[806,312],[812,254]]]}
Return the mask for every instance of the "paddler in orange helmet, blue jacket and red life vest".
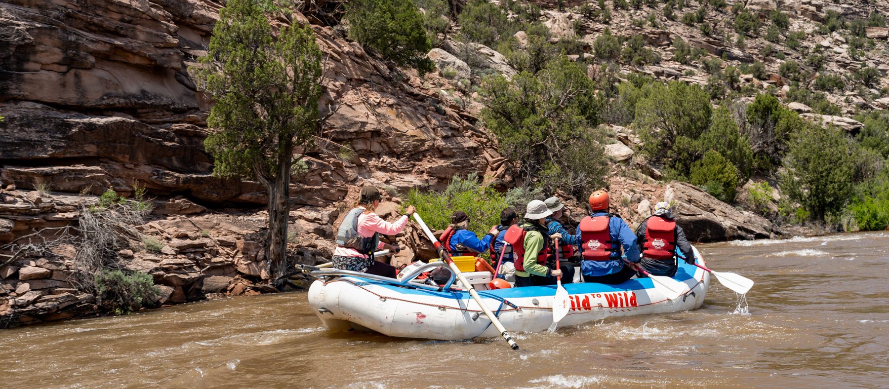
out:
{"label": "paddler in orange helmet, blue jacket and red life vest", "polygon": [[608,193],[593,192],[589,195],[590,214],[578,227],[584,282],[618,284],[636,275],[636,269],[621,260],[621,257],[627,258],[633,267],[639,262],[636,234],[620,216],[609,213],[608,207]]}

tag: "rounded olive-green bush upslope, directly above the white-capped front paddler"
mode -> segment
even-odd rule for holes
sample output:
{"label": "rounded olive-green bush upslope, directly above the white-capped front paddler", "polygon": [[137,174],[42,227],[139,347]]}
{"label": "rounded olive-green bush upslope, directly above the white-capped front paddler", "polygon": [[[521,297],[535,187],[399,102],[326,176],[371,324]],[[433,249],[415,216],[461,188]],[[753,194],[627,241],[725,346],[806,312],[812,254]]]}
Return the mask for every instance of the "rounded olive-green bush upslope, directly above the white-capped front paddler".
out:
{"label": "rounded olive-green bush upslope, directly above the white-capped front paddler", "polygon": [[636,105],[634,125],[642,151],[660,162],[677,137],[698,139],[710,125],[710,99],[700,86],[674,81],[653,83]]}

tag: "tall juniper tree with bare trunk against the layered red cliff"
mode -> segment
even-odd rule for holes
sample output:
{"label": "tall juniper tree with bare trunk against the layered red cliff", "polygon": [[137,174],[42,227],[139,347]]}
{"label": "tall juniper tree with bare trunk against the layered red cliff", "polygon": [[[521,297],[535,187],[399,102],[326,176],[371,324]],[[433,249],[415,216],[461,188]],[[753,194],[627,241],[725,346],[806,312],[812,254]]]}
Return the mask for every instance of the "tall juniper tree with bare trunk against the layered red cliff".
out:
{"label": "tall juniper tree with bare trunk against the layered red cliff", "polygon": [[215,102],[204,147],[213,174],[256,179],[268,194],[266,257],[283,271],[292,168],[318,128],[321,51],[311,28],[283,27],[275,36],[252,0],[229,0],[220,10],[207,55],[195,69]]}

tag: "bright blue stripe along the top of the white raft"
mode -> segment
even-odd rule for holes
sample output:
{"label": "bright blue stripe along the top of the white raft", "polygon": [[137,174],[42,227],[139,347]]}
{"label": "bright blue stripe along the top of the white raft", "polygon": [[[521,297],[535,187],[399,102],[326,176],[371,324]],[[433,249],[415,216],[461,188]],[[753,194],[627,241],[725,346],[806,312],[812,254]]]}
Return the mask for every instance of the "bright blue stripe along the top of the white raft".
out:
{"label": "bright blue stripe along the top of the white raft", "polygon": [[[698,268],[693,265],[688,265],[685,261],[680,260],[679,266],[677,267],[676,275],[673,276],[674,279],[685,282],[690,279],[693,279],[693,275]],[[432,291],[432,290],[420,290],[420,289],[411,289],[411,288],[402,288],[396,285],[388,284],[386,282],[372,281],[367,280],[360,277],[348,276],[348,278],[356,279],[356,283],[360,286],[365,285],[376,285],[388,290],[396,290],[398,293],[410,294],[410,295],[421,295],[421,296],[430,296],[436,298],[453,298],[453,299],[466,299],[469,298],[469,292],[466,291]],[[605,283],[596,283],[596,282],[581,282],[581,283],[565,283],[562,286],[565,287],[565,290],[568,291],[568,294],[582,294],[582,293],[605,293],[605,292],[613,292],[613,291],[625,291],[625,290],[644,290],[644,289],[653,289],[654,282],[650,278],[634,278],[627,282],[623,282],[617,285],[608,285]],[[556,293],[556,285],[548,285],[548,286],[526,286],[524,288],[509,288],[509,289],[501,289],[501,290],[477,290],[478,295],[487,298],[539,298],[539,297],[551,297]]]}

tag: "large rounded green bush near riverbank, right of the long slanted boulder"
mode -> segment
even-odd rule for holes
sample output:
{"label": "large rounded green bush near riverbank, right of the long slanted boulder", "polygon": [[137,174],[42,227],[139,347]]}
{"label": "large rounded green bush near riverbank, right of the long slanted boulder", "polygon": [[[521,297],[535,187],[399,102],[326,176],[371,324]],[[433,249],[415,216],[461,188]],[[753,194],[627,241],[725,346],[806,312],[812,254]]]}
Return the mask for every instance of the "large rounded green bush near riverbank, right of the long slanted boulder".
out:
{"label": "large rounded green bush near riverbank, right of the long slanted boulder", "polygon": [[814,220],[842,210],[853,192],[855,145],[845,131],[805,125],[793,134],[781,173],[781,192]]}

